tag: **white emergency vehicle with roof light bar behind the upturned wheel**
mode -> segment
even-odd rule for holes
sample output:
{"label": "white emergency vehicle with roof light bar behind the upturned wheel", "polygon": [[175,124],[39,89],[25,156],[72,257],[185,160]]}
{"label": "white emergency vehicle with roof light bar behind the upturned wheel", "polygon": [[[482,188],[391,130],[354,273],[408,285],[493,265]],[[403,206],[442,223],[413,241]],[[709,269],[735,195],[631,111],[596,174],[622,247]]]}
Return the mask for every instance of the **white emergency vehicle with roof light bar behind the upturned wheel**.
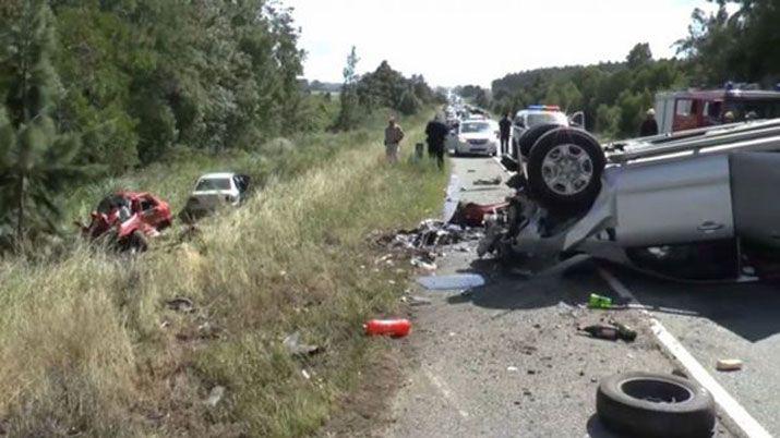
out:
{"label": "white emergency vehicle with roof light bar behind the upturned wheel", "polygon": [[[524,139],[523,134],[542,125],[547,126],[547,129],[537,130],[540,135],[535,135],[533,138],[528,141]],[[541,136],[541,133],[561,126],[583,127],[585,126],[585,114],[575,112],[572,117],[566,117],[556,105],[531,105],[515,114],[512,122],[512,150],[502,150],[501,154],[519,162],[520,157],[528,156],[530,147]]]}

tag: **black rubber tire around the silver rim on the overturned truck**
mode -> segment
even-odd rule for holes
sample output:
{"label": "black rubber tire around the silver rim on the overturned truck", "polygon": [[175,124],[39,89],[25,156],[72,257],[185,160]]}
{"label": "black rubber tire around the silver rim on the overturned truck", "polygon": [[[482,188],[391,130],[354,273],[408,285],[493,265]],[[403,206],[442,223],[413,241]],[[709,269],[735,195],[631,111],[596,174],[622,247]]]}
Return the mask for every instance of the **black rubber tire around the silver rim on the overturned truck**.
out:
{"label": "black rubber tire around the silver rim on the overturned truck", "polygon": [[[590,158],[590,179],[585,186],[572,194],[555,192],[548,186],[542,175],[544,158],[560,145],[575,145]],[[527,166],[528,187],[533,199],[542,207],[563,215],[579,214],[590,208],[599,195],[604,166],[604,151],[596,138],[581,130],[559,127],[542,135],[531,148]]]}

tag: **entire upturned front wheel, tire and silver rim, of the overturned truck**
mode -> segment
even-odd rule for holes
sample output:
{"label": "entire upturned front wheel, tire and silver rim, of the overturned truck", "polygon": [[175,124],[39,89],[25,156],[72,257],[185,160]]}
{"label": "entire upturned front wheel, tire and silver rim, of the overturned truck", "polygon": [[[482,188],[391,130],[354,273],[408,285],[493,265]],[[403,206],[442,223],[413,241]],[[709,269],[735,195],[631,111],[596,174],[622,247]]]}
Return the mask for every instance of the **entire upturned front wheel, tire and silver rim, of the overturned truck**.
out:
{"label": "entire upturned front wheel, tire and silver rim, of the overturned truck", "polygon": [[542,135],[528,158],[528,186],[542,207],[561,214],[590,208],[601,190],[607,160],[585,131],[559,127]]}

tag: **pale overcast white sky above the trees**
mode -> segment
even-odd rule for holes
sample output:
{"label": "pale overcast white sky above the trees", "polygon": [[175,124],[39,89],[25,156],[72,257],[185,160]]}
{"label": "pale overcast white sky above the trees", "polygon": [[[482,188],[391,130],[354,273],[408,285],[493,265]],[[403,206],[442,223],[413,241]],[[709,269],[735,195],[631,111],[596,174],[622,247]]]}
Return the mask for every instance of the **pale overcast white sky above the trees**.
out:
{"label": "pale overcast white sky above the trees", "polygon": [[293,8],[307,51],[304,77],[341,82],[387,60],[432,85],[490,83],[541,66],[622,61],[637,42],[675,54],[704,0],[281,0]]}

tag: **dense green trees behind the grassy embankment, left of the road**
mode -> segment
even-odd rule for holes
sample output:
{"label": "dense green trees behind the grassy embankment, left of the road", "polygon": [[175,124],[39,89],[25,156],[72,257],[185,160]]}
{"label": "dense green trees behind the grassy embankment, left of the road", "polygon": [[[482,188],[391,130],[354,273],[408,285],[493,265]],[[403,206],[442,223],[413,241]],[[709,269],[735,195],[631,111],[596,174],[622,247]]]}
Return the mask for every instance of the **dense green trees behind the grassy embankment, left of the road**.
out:
{"label": "dense green trees behind the grassy embankment, left of the road", "polygon": [[[299,32],[278,0],[0,1],[0,244],[56,232],[86,177],[353,127],[323,123]],[[386,63],[355,93],[404,113],[431,96]]]}

